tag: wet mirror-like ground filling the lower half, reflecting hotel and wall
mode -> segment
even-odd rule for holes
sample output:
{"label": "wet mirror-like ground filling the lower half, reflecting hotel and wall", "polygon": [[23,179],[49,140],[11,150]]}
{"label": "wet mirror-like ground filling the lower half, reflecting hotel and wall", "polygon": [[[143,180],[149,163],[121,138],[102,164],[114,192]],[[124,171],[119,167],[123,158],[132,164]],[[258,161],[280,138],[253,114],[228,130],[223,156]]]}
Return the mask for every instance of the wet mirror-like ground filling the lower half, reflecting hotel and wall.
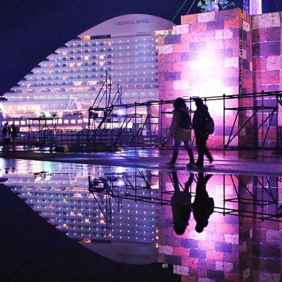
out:
{"label": "wet mirror-like ground filling the lower half, reflecting hotel and wall", "polygon": [[[168,168],[171,153],[2,152],[1,281],[132,281],[134,276],[134,281],[180,281],[181,274],[189,281],[227,282],[243,281],[246,269],[253,277],[264,273],[261,281],[280,281],[281,153],[212,151],[213,163],[201,169],[188,169],[184,152],[175,168]],[[174,180],[180,189],[191,180],[189,200],[196,203],[202,175],[211,176],[206,183],[214,201],[209,223],[196,233],[194,204],[184,235],[176,235]],[[249,256],[237,252],[249,218],[257,226],[253,237],[260,229],[271,233],[266,242],[274,249],[266,256],[276,262],[271,271],[240,266],[240,259]],[[252,242],[253,250],[259,240]],[[254,261],[259,252],[252,253]]]}

